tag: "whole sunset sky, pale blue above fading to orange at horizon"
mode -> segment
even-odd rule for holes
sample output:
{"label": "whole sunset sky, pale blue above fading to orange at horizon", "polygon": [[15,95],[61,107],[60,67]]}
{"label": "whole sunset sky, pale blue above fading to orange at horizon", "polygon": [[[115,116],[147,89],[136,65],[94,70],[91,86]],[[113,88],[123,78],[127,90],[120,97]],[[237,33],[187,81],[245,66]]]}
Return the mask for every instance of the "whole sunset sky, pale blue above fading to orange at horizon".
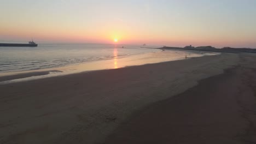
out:
{"label": "whole sunset sky, pale blue above fading to orange at horizon", "polygon": [[254,0],[1,0],[0,42],[256,48],[255,6]]}

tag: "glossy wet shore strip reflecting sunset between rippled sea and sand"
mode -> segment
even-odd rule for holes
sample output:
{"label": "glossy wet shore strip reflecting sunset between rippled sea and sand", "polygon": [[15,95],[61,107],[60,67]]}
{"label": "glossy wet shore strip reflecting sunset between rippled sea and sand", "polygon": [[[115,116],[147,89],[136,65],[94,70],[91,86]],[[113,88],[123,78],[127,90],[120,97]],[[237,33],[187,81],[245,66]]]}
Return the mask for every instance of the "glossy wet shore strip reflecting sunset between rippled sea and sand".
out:
{"label": "glossy wet shore strip reflecting sunset between rippled sea and sand", "polygon": [[[143,48],[146,49],[146,48]],[[153,49],[153,48],[152,48]],[[156,48],[154,48],[156,49]],[[158,48],[157,48],[158,49]],[[64,76],[64,75],[70,75],[70,74],[77,74],[77,73],[90,73],[97,70],[108,70],[108,69],[117,69],[117,68],[125,68],[125,67],[134,67],[139,65],[146,65],[146,64],[153,64],[153,63],[162,63],[162,62],[170,62],[170,61],[181,61],[185,60],[186,58],[178,57],[178,58],[167,58],[168,55],[171,55],[172,53],[169,53],[170,51],[176,51],[176,50],[162,50],[157,52],[151,52],[151,53],[143,53],[138,55],[132,55],[130,57],[121,57],[116,59],[108,59],[102,61],[92,61],[92,62],[84,62],[84,63],[78,63],[78,64],[72,64],[67,65],[64,67],[59,68],[49,68],[49,69],[38,69],[38,70],[28,70],[28,71],[17,71],[17,72],[9,72],[9,73],[0,73],[0,85],[5,85],[6,83],[13,83],[13,82],[22,82],[22,81],[31,81],[31,80],[37,80],[37,79],[44,79],[46,77],[55,77],[55,76]],[[165,53],[167,54],[165,54]],[[196,57],[202,57],[202,56],[212,56],[212,55],[219,55],[218,53],[212,52],[210,55],[205,54],[202,56],[194,55],[194,52],[191,52],[191,58]],[[190,54],[189,54],[190,55]],[[147,62],[138,63],[135,62],[137,60],[141,60],[140,58],[143,57],[143,59],[147,59]],[[159,59],[154,59],[152,57],[158,57]],[[148,59],[152,59],[151,61]],[[113,64],[114,61],[114,67],[110,66]],[[118,66],[118,63],[121,63],[122,65]],[[132,64],[133,63],[133,64]],[[107,67],[102,68],[95,68],[94,65],[108,65]],[[85,67],[88,67],[84,69]],[[53,74],[54,73],[54,74]]]}

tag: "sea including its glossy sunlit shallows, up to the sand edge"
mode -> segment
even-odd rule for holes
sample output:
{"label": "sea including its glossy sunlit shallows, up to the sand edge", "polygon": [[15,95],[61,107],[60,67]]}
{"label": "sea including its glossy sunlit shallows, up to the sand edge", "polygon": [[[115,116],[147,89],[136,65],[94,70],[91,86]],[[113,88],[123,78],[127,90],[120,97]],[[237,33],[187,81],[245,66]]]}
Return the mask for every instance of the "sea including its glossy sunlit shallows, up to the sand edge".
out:
{"label": "sea including its glossy sunlit shallows, up to the sand edge", "polygon": [[185,59],[185,56],[191,58],[217,55],[213,52],[202,54],[200,51],[163,51],[156,49],[158,47],[162,46],[38,44],[37,47],[0,47],[0,76],[45,70],[60,72],[55,75],[71,74],[82,71],[176,61]]}

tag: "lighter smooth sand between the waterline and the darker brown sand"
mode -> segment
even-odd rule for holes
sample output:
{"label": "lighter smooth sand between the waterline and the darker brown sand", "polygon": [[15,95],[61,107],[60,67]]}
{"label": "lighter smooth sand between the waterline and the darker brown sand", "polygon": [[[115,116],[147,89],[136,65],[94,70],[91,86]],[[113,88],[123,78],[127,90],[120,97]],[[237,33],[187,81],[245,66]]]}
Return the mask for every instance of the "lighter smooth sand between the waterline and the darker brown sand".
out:
{"label": "lighter smooth sand between the waterline and the darker brown sand", "polygon": [[223,53],[1,85],[0,143],[103,142],[136,110],[235,67],[241,57]]}

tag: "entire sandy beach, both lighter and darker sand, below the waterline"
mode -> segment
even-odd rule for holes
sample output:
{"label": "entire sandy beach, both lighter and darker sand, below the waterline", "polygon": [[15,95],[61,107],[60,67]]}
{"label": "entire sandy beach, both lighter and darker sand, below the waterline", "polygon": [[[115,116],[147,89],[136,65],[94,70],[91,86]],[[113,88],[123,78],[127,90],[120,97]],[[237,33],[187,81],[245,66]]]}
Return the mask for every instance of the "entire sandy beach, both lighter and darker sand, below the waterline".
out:
{"label": "entire sandy beach, both lighter and darker sand, below the waterline", "polygon": [[255,77],[254,62],[250,53],[222,53],[7,83],[0,86],[0,143],[251,140],[246,110],[255,82],[246,76]]}

